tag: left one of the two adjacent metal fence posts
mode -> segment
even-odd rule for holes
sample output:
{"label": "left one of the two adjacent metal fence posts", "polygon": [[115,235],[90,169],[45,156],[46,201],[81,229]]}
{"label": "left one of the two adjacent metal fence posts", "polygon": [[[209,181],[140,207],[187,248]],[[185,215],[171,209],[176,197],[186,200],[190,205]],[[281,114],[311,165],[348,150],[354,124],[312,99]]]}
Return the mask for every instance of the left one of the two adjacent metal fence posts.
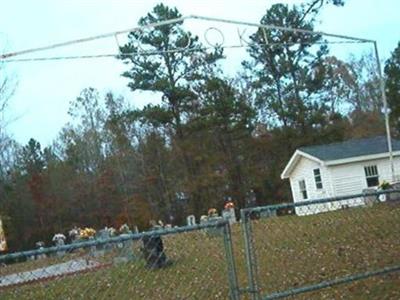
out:
{"label": "left one of the two adjacent metal fence posts", "polygon": [[228,279],[229,279],[229,295],[231,300],[239,300],[239,284],[237,280],[237,272],[235,265],[235,256],[233,253],[232,245],[232,234],[229,222],[226,222],[223,227],[224,232],[224,246],[225,246],[225,257],[228,265]]}

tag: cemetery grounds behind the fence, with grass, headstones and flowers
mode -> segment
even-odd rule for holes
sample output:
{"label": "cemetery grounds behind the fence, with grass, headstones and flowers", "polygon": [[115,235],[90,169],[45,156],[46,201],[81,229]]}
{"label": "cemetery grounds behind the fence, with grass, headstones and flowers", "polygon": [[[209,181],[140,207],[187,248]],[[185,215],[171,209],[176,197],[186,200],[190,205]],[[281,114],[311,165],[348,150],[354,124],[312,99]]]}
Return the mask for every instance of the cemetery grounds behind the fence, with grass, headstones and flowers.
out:
{"label": "cemetery grounds behind the fence, with grass, headstones and flowers", "polygon": [[[381,203],[372,207],[353,208],[305,217],[288,215],[259,219],[256,223],[257,226],[254,227],[255,249],[260,254],[258,255],[258,263],[260,266],[270,266],[268,269],[260,270],[264,274],[262,278],[265,278],[265,281],[261,283],[263,288],[273,289],[284,287],[287,283],[296,282],[300,284],[324,276],[321,274],[326,274],[326,271],[320,273],[312,265],[305,268],[304,263],[310,259],[314,261],[316,266],[323,265],[324,270],[336,270],[336,274],[340,275],[350,262],[355,270],[358,268],[362,270],[364,259],[369,259],[371,264],[381,264],[389,262],[393,257],[398,257],[399,245],[396,232],[400,230],[400,227],[398,227],[400,224],[399,209],[399,205]],[[221,215],[223,215],[224,210],[226,210],[226,207],[221,212],[210,209],[207,215],[202,216],[199,223],[212,223],[216,219],[222,219]],[[391,222],[384,222],[388,219]],[[190,221],[188,227],[197,225],[193,216],[188,216],[188,220]],[[340,231],[339,228],[344,222],[349,223],[349,225],[354,222],[354,226],[350,225],[346,231]],[[360,224],[360,222],[368,224],[368,228],[379,228],[379,231],[371,230],[366,233],[368,239],[359,239],[357,236],[360,235],[362,227],[357,224]],[[328,224],[329,227],[327,227]],[[393,230],[393,226],[397,226],[397,230]],[[293,228],[293,230],[292,232],[285,231],[285,236],[282,237],[280,235],[280,228],[282,227]],[[83,229],[82,234],[88,236],[85,237],[87,240],[95,239],[95,236],[107,239],[112,234],[118,236],[129,234],[130,229],[128,228],[127,225],[115,231],[104,228],[97,231],[93,236],[88,233],[93,233],[94,230]],[[269,238],[268,243],[264,244],[266,240],[263,236],[266,228],[268,228]],[[158,227],[154,232],[162,232],[163,230],[165,229]],[[240,223],[233,223],[231,230],[234,252],[238,255],[244,247]],[[57,299],[62,295],[60,293],[67,290],[68,294],[73,296],[75,292],[69,289],[72,285],[78,290],[86,288],[95,291],[100,287],[98,286],[99,282],[102,282],[103,285],[106,284],[102,280],[109,283],[122,280],[121,286],[110,285],[105,289],[105,295],[107,297],[130,295],[135,299],[148,299],[148,297],[151,297],[151,299],[175,299],[174,296],[177,294],[182,295],[182,297],[191,295],[192,291],[196,291],[198,294],[199,288],[211,279],[218,284],[211,289],[203,290],[204,295],[206,297],[220,295],[216,298],[226,299],[229,291],[226,284],[222,235],[218,232],[219,229],[207,228],[170,236],[155,234],[150,238],[142,238],[141,240],[126,240],[120,243],[92,246],[84,252],[74,251],[61,254],[58,251],[53,257],[47,256],[36,258],[35,261],[10,264],[0,268],[0,293],[4,295],[5,299],[28,299],[40,297],[40,295],[43,295],[41,293],[46,291],[46,295],[52,295],[51,299]],[[332,232],[335,232],[335,235],[332,235]],[[380,235],[380,232],[385,234]],[[331,235],[331,239],[320,238],[327,234]],[[352,241],[347,239],[348,235],[353,236]],[[299,242],[299,236],[302,237],[302,242]],[[62,243],[60,240],[64,241],[60,234],[57,237],[54,238],[57,243]],[[346,241],[345,248],[343,248],[344,241]],[[77,242],[74,241],[74,243]],[[313,245],[311,252],[307,246],[309,244]],[[378,244],[380,249],[384,249],[383,254],[379,257],[376,257],[376,253],[374,254],[373,251],[363,251],[360,254],[360,249],[376,249]],[[38,246],[43,247],[42,244]],[[296,253],[295,257],[293,256],[294,252]],[[266,253],[274,253],[274,256],[265,255]],[[345,255],[345,259],[338,260],[338,253],[339,257]],[[288,261],[291,262],[291,273],[280,274],[277,272],[285,268]],[[39,265],[29,267],[30,263]],[[244,261],[237,259],[236,263],[238,280],[241,284],[245,284]],[[21,267],[25,268],[21,269]],[[13,272],[13,268],[18,272]],[[296,277],[300,270],[301,274],[304,274],[303,279]],[[45,271],[47,277],[44,277],[43,271]],[[176,274],[181,275],[176,276]],[[160,276],[162,276],[162,280]],[[193,278],[197,279],[194,280]],[[340,293],[344,291],[351,293],[351,291],[362,288],[367,289],[371,295],[378,295],[379,289],[374,289],[374,286],[379,280],[379,277],[373,277],[341,288],[324,290],[320,293],[329,298],[335,297],[339,291]],[[17,290],[11,287],[7,288],[7,281],[19,288]],[[381,288],[396,291],[393,288],[399,284],[399,278],[392,276],[386,278],[384,282],[379,282]],[[44,291],[36,288],[43,284],[46,284]],[[171,289],[171,287],[173,288]],[[158,294],[157,291],[163,291],[163,293]]]}

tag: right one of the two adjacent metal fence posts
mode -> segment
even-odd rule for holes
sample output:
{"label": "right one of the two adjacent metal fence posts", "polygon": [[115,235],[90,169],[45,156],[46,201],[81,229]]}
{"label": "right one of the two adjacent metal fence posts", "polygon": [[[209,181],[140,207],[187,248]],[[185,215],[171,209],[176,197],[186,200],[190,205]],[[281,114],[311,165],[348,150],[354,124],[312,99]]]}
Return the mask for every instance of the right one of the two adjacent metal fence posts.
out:
{"label": "right one of the two adjacent metal fence posts", "polygon": [[249,211],[247,209],[240,210],[240,219],[242,223],[244,248],[246,256],[246,268],[247,268],[247,280],[248,280],[247,292],[251,294],[252,300],[259,300],[260,291],[258,289],[258,283],[257,283],[257,274],[258,274],[257,261],[254,253],[251,219]]}

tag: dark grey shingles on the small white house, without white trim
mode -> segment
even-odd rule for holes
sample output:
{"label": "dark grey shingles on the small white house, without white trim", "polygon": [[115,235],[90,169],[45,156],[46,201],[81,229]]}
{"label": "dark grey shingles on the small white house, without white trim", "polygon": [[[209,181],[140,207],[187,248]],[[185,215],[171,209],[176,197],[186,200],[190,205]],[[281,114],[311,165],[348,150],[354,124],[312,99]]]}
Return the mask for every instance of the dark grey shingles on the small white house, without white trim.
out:
{"label": "dark grey shingles on the small white house, without white trim", "polygon": [[[392,139],[392,149],[393,151],[400,151],[400,140]],[[299,150],[320,160],[328,161],[387,153],[388,147],[386,136],[376,136],[372,138],[352,139],[341,143],[301,147]]]}

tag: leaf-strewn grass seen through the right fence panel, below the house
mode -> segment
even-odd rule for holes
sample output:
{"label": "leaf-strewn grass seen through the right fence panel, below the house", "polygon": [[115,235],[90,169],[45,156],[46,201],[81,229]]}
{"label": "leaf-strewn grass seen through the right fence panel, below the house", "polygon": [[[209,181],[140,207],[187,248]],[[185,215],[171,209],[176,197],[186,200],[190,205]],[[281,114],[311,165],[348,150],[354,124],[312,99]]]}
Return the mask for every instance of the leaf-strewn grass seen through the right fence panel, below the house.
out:
{"label": "leaf-strewn grass seen through the right fence panel, below the house", "polygon": [[[400,264],[400,206],[380,204],[254,223],[263,294]],[[308,293],[304,299],[400,299],[399,273]]]}

